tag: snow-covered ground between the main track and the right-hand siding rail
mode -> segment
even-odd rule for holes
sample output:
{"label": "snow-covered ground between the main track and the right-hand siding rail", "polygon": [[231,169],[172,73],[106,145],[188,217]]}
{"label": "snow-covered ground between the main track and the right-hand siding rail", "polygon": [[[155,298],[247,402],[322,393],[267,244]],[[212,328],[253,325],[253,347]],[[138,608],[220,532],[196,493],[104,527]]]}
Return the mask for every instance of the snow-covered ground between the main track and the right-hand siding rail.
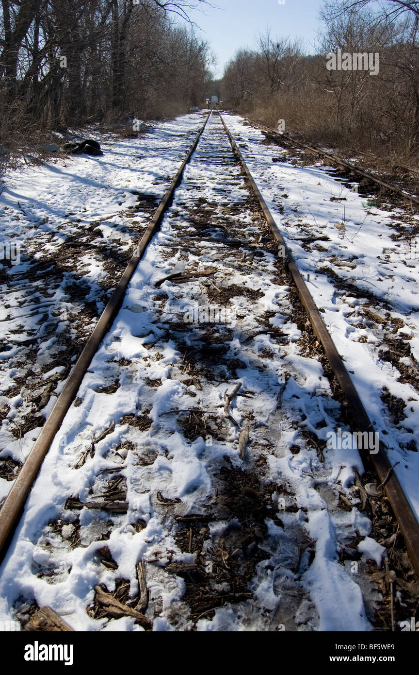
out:
{"label": "snow-covered ground between the main track and the right-hand siding rail", "polygon": [[419,518],[419,215],[225,119]]}

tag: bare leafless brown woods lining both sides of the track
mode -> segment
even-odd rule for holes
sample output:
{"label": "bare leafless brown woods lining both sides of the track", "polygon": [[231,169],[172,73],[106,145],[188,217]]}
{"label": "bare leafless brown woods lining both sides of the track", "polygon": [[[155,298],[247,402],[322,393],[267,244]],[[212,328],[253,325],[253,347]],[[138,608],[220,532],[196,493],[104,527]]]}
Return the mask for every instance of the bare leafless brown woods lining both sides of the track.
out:
{"label": "bare leafless brown woods lining both sides of the track", "polygon": [[[212,55],[191,7],[205,0],[1,0],[0,153],[31,151],[48,132],[128,117],[170,117],[204,105]],[[417,0],[324,0],[311,55],[301,41],[259,34],[220,84],[224,106],[312,142],[418,154]],[[375,72],[329,68],[358,53]],[[218,92],[218,89],[217,89]]]}

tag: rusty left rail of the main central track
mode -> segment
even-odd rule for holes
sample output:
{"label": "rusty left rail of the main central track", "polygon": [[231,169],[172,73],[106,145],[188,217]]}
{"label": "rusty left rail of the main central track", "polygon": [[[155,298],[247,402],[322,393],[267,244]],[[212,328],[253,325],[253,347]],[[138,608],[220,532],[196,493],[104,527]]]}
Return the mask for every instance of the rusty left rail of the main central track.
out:
{"label": "rusty left rail of the main central track", "polygon": [[154,213],[154,216],[152,218],[152,221],[150,221],[150,225],[148,225],[146,233],[143,235],[143,238],[141,238],[141,241],[139,242],[137,248],[135,249],[133,257],[129,261],[129,264],[125,269],[125,272],[123,273],[117,288],[115,288],[115,291],[113,292],[108,304],[104,308],[104,311],[98,323],[96,324],[96,327],[94,328],[92,335],[90,335],[88,343],[86,344],[82,354],[79,356],[79,359],[77,360],[73,370],[71,371],[69,378],[65,383],[63,391],[61,391],[61,394],[51,414],[49,415],[49,418],[46,420],[46,423],[42,427],[42,431],[38,436],[38,439],[36,440],[34,447],[32,448],[28,458],[26,459],[26,462],[22,466],[22,470],[20,471],[18,478],[15,480],[15,483],[13,483],[13,487],[11,487],[9,494],[5,499],[3,507],[0,510],[0,553],[3,550],[6,541],[9,539],[9,535],[11,534],[11,531],[13,529],[13,525],[15,524],[22,507],[26,502],[26,498],[28,497],[32,484],[36,479],[38,470],[40,469],[44,457],[46,456],[46,453],[49,451],[51,443],[53,442],[55,435],[59,431],[59,428],[63,423],[63,419],[67,414],[69,407],[71,406],[71,403],[73,402],[77,394],[79,386],[82,383],[82,379],[84,378],[84,375],[86,375],[88,367],[92,362],[92,358],[96,354],[96,351],[98,350],[98,346],[104,334],[110,327],[112,319],[115,318],[115,315],[117,314],[117,311],[119,310],[121,303],[123,302],[123,298],[125,296],[125,291],[127,290],[129,281],[131,280],[131,277],[133,276],[133,273],[135,272],[135,269],[137,268],[139,261],[143,257],[143,254],[146,251],[148,244],[150,244],[150,241],[152,240],[154,234],[156,234],[156,232],[158,232],[158,229],[160,228],[160,223],[162,222],[163,215],[172,202],[174,191],[179,186],[183,178],[183,172],[185,171],[185,167],[189,163],[193,153],[195,152],[199,138],[201,138],[203,130],[205,129],[205,126],[207,125],[207,121],[210,119],[211,114],[212,113],[207,115],[207,118],[205,119],[203,126],[201,126],[201,128],[199,129],[199,132],[195,137],[193,144],[189,148],[189,151],[185,159],[183,160],[181,167],[179,168],[179,171],[176,173],[174,179],[172,180],[170,188],[168,188],[166,194],[164,195],[162,201],[160,202],[160,205],[156,213]]}

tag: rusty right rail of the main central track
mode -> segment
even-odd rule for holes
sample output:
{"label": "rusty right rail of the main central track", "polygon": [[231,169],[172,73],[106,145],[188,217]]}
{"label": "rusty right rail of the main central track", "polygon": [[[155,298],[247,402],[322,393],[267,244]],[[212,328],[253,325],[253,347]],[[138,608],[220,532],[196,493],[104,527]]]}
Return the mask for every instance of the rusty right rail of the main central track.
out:
{"label": "rusty right rail of the main central track", "polygon": [[[263,199],[263,196],[261,195],[261,192],[257,187],[257,184],[255,183],[255,180],[253,179],[251,172],[249,171],[249,168],[247,167],[245,159],[243,159],[243,155],[240,153],[236,141],[232,137],[232,134],[230,133],[230,130],[228,129],[221,113],[220,118],[224,125],[224,129],[226,130],[228,138],[230,139],[233,151],[236,154],[238,160],[240,161],[240,164],[242,165],[243,170],[247,175],[247,179],[249,180],[249,183],[251,184],[253,191],[255,192],[255,196],[259,201],[259,205],[261,206],[261,209],[265,214],[265,218],[267,219],[267,222],[271,227],[271,232],[276,241],[278,242],[278,244],[284,247],[284,251],[286,254],[286,263],[288,264],[288,269],[290,271],[290,274],[292,275],[294,284],[296,284],[298,295],[300,296],[300,300],[304,308],[307,310],[307,313],[309,314],[309,319],[313,327],[313,331],[317,336],[317,339],[323,345],[327,359],[329,360],[329,363],[331,365],[331,369],[333,370],[333,373],[335,373],[337,380],[340,383],[346,401],[348,402],[350,412],[352,412],[354,425],[356,429],[361,433],[365,432],[368,433],[369,439],[369,433],[374,432],[374,427],[370,421],[370,418],[368,417],[368,414],[364,408],[364,405],[362,404],[362,401],[360,400],[358,391],[356,391],[356,387],[354,386],[354,383],[352,382],[352,379],[350,378],[346,366],[344,365],[344,362],[342,361],[342,358],[340,357],[340,354],[337,351],[337,348],[331,338],[331,335],[327,330],[325,323],[323,322],[323,319],[321,317],[321,314],[319,313],[317,305],[313,300],[313,296],[311,295],[309,289],[307,288],[307,285],[305,284],[304,279],[302,278],[302,275],[298,270],[298,267],[296,266],[294,258],[292,257],[292,254],[288,249],[288,246],[286,245],[286,242],[284,241],[284,238],[282,237],[280,230],[278,229],[278,225],[274,221],[271,212],[269,211],[269,208],[267,207],[267,204]],[[375,448],[368,448],[368,449],[375,450]],[[385,492],[387,494],[387,498],[389,499],[389,503],[391,504],[391,508],[393,509],[395,518],[399,523],[400,531],[406,541],[406,548],[408,549],[408,553],[410,559],[412,560],[414,570],[417,576],[419,577],[419,522],[416,518],[416,515],[414,514],[414,511],[412,510],[412,506],[410,506],[410,502],[408,501],[408,498],[406,497],[403,488],[399,483],[399,479],[395,475],[395,472],[392,470],[392,466],[389,462],[385,445],[382,443],[382,441],[379,441],[379,450],[377,454],[368,454],[368,457],[373,463],[373,466],[377,472],[379,480],[381,481],[381,483],[385,483]]]}

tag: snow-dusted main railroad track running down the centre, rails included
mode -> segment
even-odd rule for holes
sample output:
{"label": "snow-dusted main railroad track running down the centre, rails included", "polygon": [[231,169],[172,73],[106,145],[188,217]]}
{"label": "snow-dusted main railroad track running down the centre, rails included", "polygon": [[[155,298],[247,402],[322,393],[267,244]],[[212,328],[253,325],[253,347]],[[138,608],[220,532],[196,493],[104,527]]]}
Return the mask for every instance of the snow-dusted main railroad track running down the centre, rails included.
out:
{"label": "snow-dusted main railroad track running down the centre, rails included", "polygon": [[327,429],[373,431],[212,114],[1,509],[1,614],[32,630],[43,605],[75,630],[379,625],[353,572],[372,528],[357,506],[400,529],[417,573],[418,522],[384,446],[364,457],[374,497]]}

